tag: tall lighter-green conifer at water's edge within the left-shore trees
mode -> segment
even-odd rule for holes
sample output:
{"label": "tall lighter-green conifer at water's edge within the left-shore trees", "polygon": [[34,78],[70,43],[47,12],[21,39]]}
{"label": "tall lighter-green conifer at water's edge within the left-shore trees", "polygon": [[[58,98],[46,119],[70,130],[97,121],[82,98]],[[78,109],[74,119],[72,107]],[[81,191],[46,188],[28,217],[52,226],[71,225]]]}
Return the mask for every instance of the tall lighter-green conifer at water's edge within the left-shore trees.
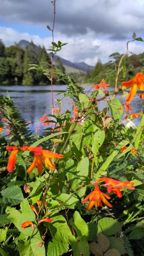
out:
{"label": "tall lighter-green conifer at water's edge within the left-shore trees", "polygon": [[22,84],[24,85],[31,85],[34,83],[34,79],[32,77],[32,72],[28,71],[28,64],[30,64],[30,59],[29,59],[29,51],[28,48],[26,48],[25,50],[25,54],[24,54],[24,76],[23,76],[23,80],[22,80]]}

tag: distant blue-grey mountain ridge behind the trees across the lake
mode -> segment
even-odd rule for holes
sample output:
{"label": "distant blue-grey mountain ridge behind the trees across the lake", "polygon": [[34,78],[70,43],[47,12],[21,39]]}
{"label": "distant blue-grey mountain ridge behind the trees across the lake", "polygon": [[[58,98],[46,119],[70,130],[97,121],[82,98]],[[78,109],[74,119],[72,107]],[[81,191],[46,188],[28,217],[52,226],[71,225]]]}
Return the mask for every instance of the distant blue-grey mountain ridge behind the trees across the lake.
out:
{"label": "distant blue-grey mountain ridge behind the trees across the lake", "polygon": [[[25,49],[26,46],[29,46],[29,44],[30,44],[30,42],[28,42],[26,40],[20,40],[20,42],[18,43],[18,46],[20,48]],[[35,49],[38,50],[38,46],[37,45],[34,45],[34,46],[35,46]],[[51,57],[50,54],[49,54],[49,56]],[[59,57],[58,55],[54,56],[54,62],[55,62],[56,58],[58,58],[58,57]],[[70,70],[70,68],[67,68],[69,70],[69,73],[77,72],[76,70],[79,70],[78,72],[80,72],[80,71],[86,72],[88,70],[88,64],[86,64],[84,62],[73,63],[73,62],[71,62],[69,60],[65,60],[65,59],[63,59],[61,57],[59,57],[59,58],[60,58],[62,64],[65,66],[65,68],[66,68],[66,66],[72,68],[71,70]],[[90,66],[90,70],[92,70],[92,69],[94,69],[94,66]]]}

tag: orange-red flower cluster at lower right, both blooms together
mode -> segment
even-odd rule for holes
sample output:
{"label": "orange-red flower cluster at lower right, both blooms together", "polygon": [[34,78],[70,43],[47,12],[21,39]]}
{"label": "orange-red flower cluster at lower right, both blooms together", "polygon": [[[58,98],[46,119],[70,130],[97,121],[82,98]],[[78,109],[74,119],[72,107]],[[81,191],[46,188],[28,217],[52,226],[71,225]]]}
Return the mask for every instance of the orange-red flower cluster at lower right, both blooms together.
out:
{"label": "orange-red flower cluster at lower right, both blooms together", "polygon": [[103,186],[107,188],[107,192],[108,193],[114,192],[119,198],[122,197],[122,193],[120,189],[128,188],[130,190],[134,190],[134,187],[132,187],[134,186],[133,182],[129,182],[129,181],[121,182],[119,180],[114,180],[112,178],[106,178],[106,177],[100,178],[92,183],[93,185],[96,184],[94,191],[92,191],[88,196],[86,196],[86,198],[82,200],[82,203],[85,203],[89,199],[89,203],[86,208],[87,210],[90,210],[94,205],[96,206],[96,210],[98,210],[98,206],[102,206],[102,202],[104,202],[104,204],[106,204],[107,206],[112,207],[112,204],[110,204],[108,200],[106,200],[106,199],[110,199],[110,196],[108,196],[107,194],[104,194],[99,189],[98,182],[102,182],[102,181],[105,182]]}

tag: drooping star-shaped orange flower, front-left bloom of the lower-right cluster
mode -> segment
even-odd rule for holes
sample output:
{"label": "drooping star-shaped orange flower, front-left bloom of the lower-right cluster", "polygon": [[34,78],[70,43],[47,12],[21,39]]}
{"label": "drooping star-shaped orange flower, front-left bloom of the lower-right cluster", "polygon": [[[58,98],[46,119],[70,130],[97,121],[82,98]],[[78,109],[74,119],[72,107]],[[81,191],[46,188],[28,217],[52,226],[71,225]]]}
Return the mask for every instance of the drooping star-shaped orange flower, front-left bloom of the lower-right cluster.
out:
{"label": "drooping star-shaped orange flower, front-left bloom of the lower-right cluster", "polygon": [[94,188],[94,191],[91,192],[88,196],[86,196],[82,200],[82,203],[85,203],[89,199],[90,202],[88,203],[86,210],[90,210],[93,205],[95,205],[96,210],[98,210],[98,206],[102,206],[102,202],[104,202],[104,204],[106,204],[107,206],[112,207],[112,205],[106,200],[106,198],[110,199],[110,196],[101,192],[97,184]]}

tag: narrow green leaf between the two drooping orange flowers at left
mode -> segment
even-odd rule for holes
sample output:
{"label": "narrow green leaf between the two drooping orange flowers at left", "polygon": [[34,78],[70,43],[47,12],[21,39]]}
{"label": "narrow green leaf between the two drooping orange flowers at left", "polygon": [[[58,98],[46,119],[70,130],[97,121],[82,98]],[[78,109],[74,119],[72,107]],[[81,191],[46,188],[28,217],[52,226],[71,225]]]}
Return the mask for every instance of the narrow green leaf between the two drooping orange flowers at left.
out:
{"label": "narrow green leaf between the two drooping orange flowers at left", "polygon": [[26,177],[26,164],[19,154],[16,156],[16,171],[21,178]]}

